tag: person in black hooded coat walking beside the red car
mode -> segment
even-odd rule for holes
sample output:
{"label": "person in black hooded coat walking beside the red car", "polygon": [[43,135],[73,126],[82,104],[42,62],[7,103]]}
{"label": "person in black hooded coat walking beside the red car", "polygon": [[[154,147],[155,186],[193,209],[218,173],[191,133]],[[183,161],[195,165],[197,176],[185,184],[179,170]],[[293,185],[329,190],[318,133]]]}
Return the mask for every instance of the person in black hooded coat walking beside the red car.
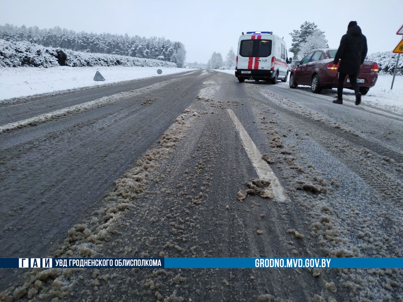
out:
{"label": "person in black hooded coat walking beside the red car", "polygon": [[333,103],[343,104],[343,83],[347,74],[349,75],[351,87],[355,91],[355,105],[361,102],[357,76],[367,56],[367,51],[367,38],[362,34],[357,21],[351,21],[347,27],[347,33],[341,37],[340,46],[333,61],[333,64],[336,65],[341,59],[338,69],[337,99]]}

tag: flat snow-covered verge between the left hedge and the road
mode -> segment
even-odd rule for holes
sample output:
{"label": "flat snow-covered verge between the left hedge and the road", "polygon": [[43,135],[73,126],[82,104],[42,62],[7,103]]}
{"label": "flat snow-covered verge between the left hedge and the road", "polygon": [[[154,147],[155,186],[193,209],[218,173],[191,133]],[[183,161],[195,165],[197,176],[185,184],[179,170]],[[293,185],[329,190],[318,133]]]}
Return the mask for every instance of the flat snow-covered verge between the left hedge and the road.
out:
{"label": "flat snow-covered verge between the left hedge and the road", "polygon": [[[157,74],[157,69],[162,74]],[[0,99],[22,97],[39,93],[75,89],[97,85],[93,81],[96,71],[105,78],[98,85],[107,85],[120,81],[159,77],[166,74],[191,71],[196,69],[175,67],[69,67],[59,66],[52,68],[18,67],[0,69]]]}

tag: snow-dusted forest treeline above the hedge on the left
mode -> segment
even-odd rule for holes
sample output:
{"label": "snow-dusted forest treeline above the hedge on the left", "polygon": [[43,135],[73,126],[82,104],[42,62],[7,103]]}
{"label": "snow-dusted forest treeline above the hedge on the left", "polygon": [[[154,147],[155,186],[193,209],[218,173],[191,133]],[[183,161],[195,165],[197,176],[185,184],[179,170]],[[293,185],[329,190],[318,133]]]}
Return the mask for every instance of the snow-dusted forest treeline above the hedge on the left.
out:
{"label": "snow-dusted forest treeline above the hedge on the left", "polygon": [[39,27],[17,27],[6,23],[0,25],[0,38],[6,41],[29,41],[46,47],[65,48],[81,52],[115,54],[137,58],[157,59],[174,62],[182,67],[185,62],[185,46],[164,37],[129,37],[110,33],[87,33],[61,29],[39,29]]}

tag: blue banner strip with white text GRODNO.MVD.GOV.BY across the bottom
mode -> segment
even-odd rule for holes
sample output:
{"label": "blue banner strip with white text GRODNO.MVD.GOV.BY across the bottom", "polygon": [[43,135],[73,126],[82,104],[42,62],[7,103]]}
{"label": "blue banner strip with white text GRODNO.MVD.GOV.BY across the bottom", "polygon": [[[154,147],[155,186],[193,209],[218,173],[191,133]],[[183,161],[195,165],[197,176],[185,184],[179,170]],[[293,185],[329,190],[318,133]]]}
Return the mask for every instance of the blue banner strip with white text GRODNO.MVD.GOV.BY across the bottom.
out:
{"label": "blue banner strip with white text GRODNO.MVD.GOV.BY across the bottom", "polygon": [[0,258],[0,268],[403,268],[403,258]]}

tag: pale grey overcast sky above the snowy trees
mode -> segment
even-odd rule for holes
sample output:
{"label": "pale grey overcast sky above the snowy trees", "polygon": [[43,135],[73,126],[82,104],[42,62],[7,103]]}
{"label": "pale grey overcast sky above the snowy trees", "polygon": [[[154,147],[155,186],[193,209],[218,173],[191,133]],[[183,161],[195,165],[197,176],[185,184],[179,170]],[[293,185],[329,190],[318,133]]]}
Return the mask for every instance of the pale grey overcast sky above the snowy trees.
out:
{"label": "pale grey overcast sky above the snowy trees", "polygon": [[304,21],[318,25],[331,48],[339,46],[349,21],[357,21],[369,53],[392,51],[403,37],[396,35],[402,12],[403,0],[0,0],[2,25],[165,37],[185,44],[186,61],[199,63],[214,51],[224,60],[229,48],[236,52],[242,31],[273,31],[290,48],[289,33]]}

